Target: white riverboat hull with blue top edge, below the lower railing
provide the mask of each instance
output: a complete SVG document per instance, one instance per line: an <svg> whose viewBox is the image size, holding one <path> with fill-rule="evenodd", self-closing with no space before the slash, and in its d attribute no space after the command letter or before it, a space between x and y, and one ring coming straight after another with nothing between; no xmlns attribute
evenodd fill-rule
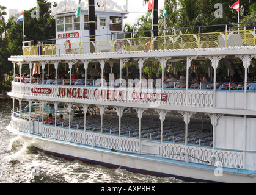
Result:
<svg viewBox="0 0 256 195"><path fill-rule="evenodd" d="M250 171L234 171L228 168L219 169L209 165L186 163L180 160L111 151L110 149L67 143L65 141L51 140L37 137L37 135L16 132L12 130L11 126L7 127L7 129L10 132L18 133L27 143L37 149L69 160L81 160L108 168L122 168L131 172L163 177L177 177L200 182L247 183L256 181L256 174Z"/></svg>

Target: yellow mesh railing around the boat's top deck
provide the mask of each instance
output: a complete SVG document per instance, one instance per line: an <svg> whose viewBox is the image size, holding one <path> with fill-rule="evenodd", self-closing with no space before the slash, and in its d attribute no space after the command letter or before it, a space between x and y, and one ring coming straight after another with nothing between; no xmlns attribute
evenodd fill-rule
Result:
<svg viewBox="0 0 256 195"><path fill-rule="evenodd" d="M254 30L224 31L198 34L174 34L159 37L126 38L93 42L96 52L144 51L164 49L227 48L255 46ZM23 55L59 55L89 53L89 42L70 44L38 44L24 46Z"/></svg>

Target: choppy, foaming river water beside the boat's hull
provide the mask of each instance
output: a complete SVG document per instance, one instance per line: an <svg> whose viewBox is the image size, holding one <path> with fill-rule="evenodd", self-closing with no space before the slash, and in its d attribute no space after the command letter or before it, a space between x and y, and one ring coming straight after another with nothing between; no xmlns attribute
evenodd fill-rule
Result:
<svg viewBox="0 0 256 195"><path fill-rule="evenodd" d="M134 174L47 155L10 133L12 101L0 102L1 183L185 183L174 177Z"/></svg>

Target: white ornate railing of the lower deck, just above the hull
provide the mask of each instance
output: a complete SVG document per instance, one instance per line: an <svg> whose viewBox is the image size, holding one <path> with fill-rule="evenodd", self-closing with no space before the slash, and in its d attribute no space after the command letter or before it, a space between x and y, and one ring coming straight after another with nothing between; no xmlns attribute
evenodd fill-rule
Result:
<svg viewBox="0 0 256 195"><path fill-rule="evenodd" d="M33 122L12 117L11 124L12 128L19 132L34 132ZM83 130L68 129L57 126L43 125L42 137L68 141L76 144L86 144L92 147L97 146L106 149L133 152L134 154L139 154L140 151L138 138L119 137L117 135L100 134L97 132L85 132ZM154 141L150 140L150 142L153 143ZM156 145L159 145L159 141L156 141ZM210 147L185 146L185 144L164 142L161 145L162 154L159 154L159 156L174 160L185 160L182 152L185 151L186 147L189 162L213 165L214 162L218 161L223 167L244 169L244 152L241 151L215 149L213 154L213 149Z"/></svg>

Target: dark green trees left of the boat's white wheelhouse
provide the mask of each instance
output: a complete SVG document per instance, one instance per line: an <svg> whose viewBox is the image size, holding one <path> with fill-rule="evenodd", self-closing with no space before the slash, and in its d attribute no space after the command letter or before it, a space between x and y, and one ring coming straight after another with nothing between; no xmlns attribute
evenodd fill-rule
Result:
<svg viewBox="0 0 256 195"><path fill-rule="evenodd" d="M55 19L51 16L51 3L47 0L37 0L40 7L40 17L31 18L31 12L35 9L24 10L25 41L46 40L55 38ZM56 3L54 3L56 4ZM23 46L23 22L16 24L13 17L4 21L6 7L0 5L0 34L5 32L5 38L0 38L0 87L8 90L10 82L4 82L4 74L12 73L13 64L8 61L12 55L22 55ZM23 69L23 71L27 71Z"/></svg>

